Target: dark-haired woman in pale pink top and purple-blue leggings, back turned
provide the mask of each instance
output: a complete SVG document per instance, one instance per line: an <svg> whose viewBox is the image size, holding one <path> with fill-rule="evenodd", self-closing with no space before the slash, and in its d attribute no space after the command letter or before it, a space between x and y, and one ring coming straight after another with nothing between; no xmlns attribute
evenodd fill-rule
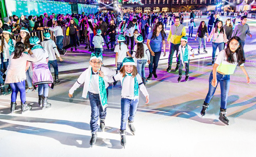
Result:
<svg viewBox="0 0 256 157"><path fill-rule="evenodd" d="M31 105L26 103L26 63L27 61L36 61L36 56L33 55L31 51L29 54L24 53L24 44L22 42L17 42L15 45L15 50L10 56L9 66L6 70L6 80L5 83L10 83L12 88L11 93L11 113L16 109L16 98L18 91L20 91L21 99L21 110L22 113L30 110Z"/></svg>

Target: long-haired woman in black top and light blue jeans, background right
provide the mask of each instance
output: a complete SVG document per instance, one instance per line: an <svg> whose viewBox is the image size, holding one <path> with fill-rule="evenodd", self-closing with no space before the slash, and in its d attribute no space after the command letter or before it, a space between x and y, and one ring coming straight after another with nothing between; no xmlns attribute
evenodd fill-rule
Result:
<svg viewBox="0 0 256 157"><path fill-rule="evenodd" d="M197 36L198 36L198 42L199 42L198 54L200 54L200 48L201 48L201 45L202 45L202 41L203 41L203 48L204 48L203 52L207 53L207 51L206 51L206 38L207 37L209 38L209 34L208 34L208 30L207 30L207 27L206 27L204 21L201 21L201 23L200 23L200 25L197 29L196 38L197 38ZM196 40L196 38L195 38L195 40Z"/></svg>

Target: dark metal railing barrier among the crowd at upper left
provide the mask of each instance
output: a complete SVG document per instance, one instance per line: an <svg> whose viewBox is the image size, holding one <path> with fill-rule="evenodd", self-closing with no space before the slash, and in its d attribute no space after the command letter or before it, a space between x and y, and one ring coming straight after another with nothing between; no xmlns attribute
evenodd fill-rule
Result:
<svg viewBox="0 0 256 157"><path fill-rule="evenodd" d="M54 32L50 31L49 29L44 29L44 30L39 30L39 31L31 31L30 36L37 36L40 39L40 41L42 41L44 32L49 32L50 35L51 35L51 39L56 43L56 38L54 36ZM70 47L70 39L69 39L69 36L66 36L66 27L65 26L62 27L62 32L63 32L63 35L64 35L63 47L64 48L69 48ZM77 31L76 33L77 33L78 39L79 39L79 31ZM18 37L18 35L19 34L14 34L14 39L15 40Z"/></svg>

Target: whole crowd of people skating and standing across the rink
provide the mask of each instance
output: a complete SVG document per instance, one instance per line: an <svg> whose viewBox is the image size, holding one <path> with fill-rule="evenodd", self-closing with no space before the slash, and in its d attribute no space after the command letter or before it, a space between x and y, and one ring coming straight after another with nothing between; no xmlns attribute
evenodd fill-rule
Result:
<svg viewBox="0 0 256 157"><path fill-rule="evenodd" d="M201 44L203 42L203 52L206 51L206 41L212 40L212 64L213 71L209 77L209 91L203 103L201 114L205 115L209 106L216 86L220 84L221 107L219 119L229 124L226 115L226 102L229 91L230 75L234 73L236 65L239 65L246 75L247 83L250 83L244 63L244 45L246 34L252 37L249 31L249 25L246 24L247 17L241 17L241 23L235 25L234 19L227 19L225 25L220 21L219 16L212 14L209 16L208 26L205 21L201 21L195 40L198 38L198 54L200 54ZM166 25L169 25L170 32L166 35ZM84 43L85 49L91 52L90 66L86 69L73 87L69 90L69 97L73 97L74 91L84 83L82 97L86 98L89 93L91 104L91 145L95 145L97 131L99 128L104 130L106 107L108 97L108 83L121 81L121 144L126 145L126 124L128 120L129 129L135 134L133 126L134 116L139 102L139 90L146 97L146 103L149 102L149 94L146 90L146 82L157 79L156 70L160 55L166 55L166 44L170 45L168 57L169 71L178 71L178 79L182 79L182 68L185 66L185 81L189 80L190 58L194 57L194 50L188 44L189 38L193 37L193 29L196 28L194 23L195 14L191 12L190 21L188 22L189 33L187 37L186 27L182 25L184 16L179 12L179 16L174 13L169 15L164 12L158 13L87 13L69 14L55 16L54 13L48 17L47 13L36 16L17 16L4 17L0 21L0 50L1 50L1 73L0 88L1 94L5 94L5 84L8 84L7 92L11 92L11 113L16 109L17 93L20 92L22 113L32 108L26 103L26 93L33 90L38 92L38 103L42 104L42 109L51 107L48 102L49 87L53 88L58 85L58 64L63 61L60 55L65 55L66 50L63 48L64 33L70 38L71 52L73 47L77 50L80 43ZM199 18L199 16L198 16ZM28 21L28 22L27 22ZM231 24L233 21L233 25ZM66 27L63 32L62 27ZM213 28L213 29L212 29ZM43 33L41 40L37 36L30 36L31 31L40 31L49 29L54 31L56 43L51 40L49 32ZM151 29L151 31L150 31ZM14 33L18 33L16 40ZM109 40L108 40L109 39ZM117 40L117 43L116 43ZM111 70L102 66L103 64L103 45L107 49L116 53L115 65L117 70ZM225 48L226 44L226 48ZM130 49L129 46L130 45ZM215 53L219 48L219 55L215 60ZM176 68L172 68L172 60L176 52ZM128 55L128 57L127 57ZM145 76L145 66L149 64L149 76ZM137 64L137 67L135 66ZM54 68L54 81L50 73L50 66ZM21 70L22 69L22 70ZM95 75L96 74L96 75ZM26 90L26 82L28 89ZM128 114L129 113L129 114ZM100 118L100 126L97 124Z"/></svg>

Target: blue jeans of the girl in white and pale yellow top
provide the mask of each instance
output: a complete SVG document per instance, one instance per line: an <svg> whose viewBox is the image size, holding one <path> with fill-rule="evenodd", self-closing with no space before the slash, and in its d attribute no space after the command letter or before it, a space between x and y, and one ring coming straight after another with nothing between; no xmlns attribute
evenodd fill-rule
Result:
<svg viewBox="0 0 256 157"><path fill-rule="evenodd" d="M221 95L221 102L220 102L220 108L226 109L226 104L228 101L228 92L229 92L229 83L230 83L230 75L222 75L217 72L216 74L217 78L217 86L220 83L220 95ZM215 93L215 90L217 88L213 87L211 82L213 79L213 72L210 73L209 77L209 90L205 99L206 103L210 103L210 100L213 97L213 94Z"/></svg>

